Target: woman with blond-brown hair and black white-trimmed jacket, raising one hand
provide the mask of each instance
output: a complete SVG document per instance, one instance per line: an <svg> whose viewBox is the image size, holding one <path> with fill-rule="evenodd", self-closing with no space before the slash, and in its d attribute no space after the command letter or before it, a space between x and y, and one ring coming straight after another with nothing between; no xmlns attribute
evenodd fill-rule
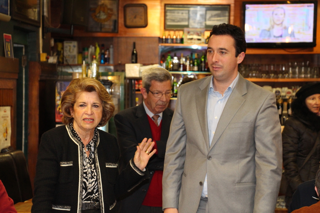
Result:
<svg viewBox="0 0 320 213"><path fill-rule="evenodd" d="M66 125L41 138L31 212L117 212L116 199L148 178L154 142L145 138L119 174L117 140L97 129L114 111L105 87L90 78L72 80L61 110Z"/></svg>

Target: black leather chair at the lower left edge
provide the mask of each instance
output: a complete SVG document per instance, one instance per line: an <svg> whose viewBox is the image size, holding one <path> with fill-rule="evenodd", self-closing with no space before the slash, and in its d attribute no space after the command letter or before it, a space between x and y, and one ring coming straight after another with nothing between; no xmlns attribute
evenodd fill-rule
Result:
<svg viewBox="0 0 320 213"><path fill-rule="evenodd" d="M24 202L33 197L26 159L20 150L7 150L0 153L0 180L14 203Z"/></svg>

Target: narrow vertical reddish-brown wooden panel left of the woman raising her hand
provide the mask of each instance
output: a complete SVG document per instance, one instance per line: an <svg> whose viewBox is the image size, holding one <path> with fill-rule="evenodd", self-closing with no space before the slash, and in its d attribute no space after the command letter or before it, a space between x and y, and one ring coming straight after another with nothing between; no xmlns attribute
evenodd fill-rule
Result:
<svg viewBox="0 0 320 213"><path fill-rule="evenodd" d="M39 150L39 78L41 65L29 62L29 111L28 111L28 170L32 188L36 175L36 162Z"/></svg>

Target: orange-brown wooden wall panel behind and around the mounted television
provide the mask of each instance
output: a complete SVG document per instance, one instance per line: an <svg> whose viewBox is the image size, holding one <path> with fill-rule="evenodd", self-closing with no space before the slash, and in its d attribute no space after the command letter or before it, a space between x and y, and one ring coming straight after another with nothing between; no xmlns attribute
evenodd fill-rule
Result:
<svg viewBox="0 0 320 213"><path fill-rule="evenodd" d="M256 0L234 0L234 25L242 27L242 2ZM272 0L266 0L266 2ZM320 0L318 0L318 12L320 11ZM246 54L319 54L320 53L320 16L317 15L317 39L316 47L313 48L248 48Z"/></svg>

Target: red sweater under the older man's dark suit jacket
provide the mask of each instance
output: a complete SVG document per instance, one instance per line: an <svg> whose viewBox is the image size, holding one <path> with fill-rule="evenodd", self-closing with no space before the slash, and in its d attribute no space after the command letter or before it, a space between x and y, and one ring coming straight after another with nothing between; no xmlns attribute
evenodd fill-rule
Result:
<svg viewBox="0 0 320 213"><path fill-rule="evenodd" d="M151 128L152 140L155 141L153 148L157 149L156 141L160 141L161 138L162 120L159 126L156 126L155 122L149 116L148 120ZM158 154L158 150L156 151L156 154ZM162 170L155 171L142 205L162 207L162 175Z"/></svg>

